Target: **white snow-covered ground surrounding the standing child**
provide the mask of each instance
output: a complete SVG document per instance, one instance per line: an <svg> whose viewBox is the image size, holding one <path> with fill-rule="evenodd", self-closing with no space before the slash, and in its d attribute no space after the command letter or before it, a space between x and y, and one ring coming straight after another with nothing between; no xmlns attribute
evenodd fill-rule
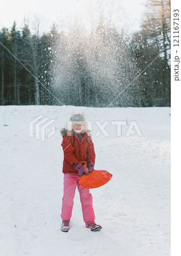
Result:
<svg viewBox="0 0 181 256"><path fill-rule="evenodd" d="M110 136L95 136L95 122L92 130L95 168L113 175L91 189L95 221L103 228L85 228L77 191L71 229L60 231L60 129L69 112L63 106L1 106L0 254L170 255L170 108L66 108L85 111L88 121L110 121ZM56 133L45 142L29 136L29 124L39 115L56 120ZM111 121L127 121L120 137ZM125 136L131 121L143 136Z"/></svg>

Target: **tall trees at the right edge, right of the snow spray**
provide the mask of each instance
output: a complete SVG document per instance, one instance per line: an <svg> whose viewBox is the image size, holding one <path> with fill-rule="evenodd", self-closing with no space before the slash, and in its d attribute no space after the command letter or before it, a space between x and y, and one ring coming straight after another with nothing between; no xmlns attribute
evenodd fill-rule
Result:
<svg viewBox="0 0 181 256"><path fill-rule="evenodd" d="M150 64L144 72L145 94L150 106L170 106L170 31L170 0L147 0L142 28L133 35L132 44L141 69Z"/></svg>

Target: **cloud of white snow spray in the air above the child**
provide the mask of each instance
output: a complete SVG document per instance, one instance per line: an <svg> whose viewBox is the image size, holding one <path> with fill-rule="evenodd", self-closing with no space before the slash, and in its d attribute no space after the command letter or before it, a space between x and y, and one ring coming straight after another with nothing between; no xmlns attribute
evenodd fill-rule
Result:
<svg viewBox="0 0 181 256"><path fill-rule="evenodd" d="M75 22L58 34L52 59L52 92L62 105L141 106L141 76L129 39L103 19L90 32Z"/></svg>

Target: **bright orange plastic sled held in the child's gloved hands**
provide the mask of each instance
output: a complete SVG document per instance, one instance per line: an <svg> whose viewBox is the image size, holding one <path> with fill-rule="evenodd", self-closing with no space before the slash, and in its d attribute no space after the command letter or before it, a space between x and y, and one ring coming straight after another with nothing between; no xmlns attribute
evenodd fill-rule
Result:
<svg viewBox="0 0 181 256"><path fill-rule="evenodd" d="M83 168L87 169L87 163L81 162ZM112 174L105 170L94 170L89 172L87 175L82 175L81 179L79 180L79 185L84 188L98 188L102 185L106 184L112 178Z"/></svg>

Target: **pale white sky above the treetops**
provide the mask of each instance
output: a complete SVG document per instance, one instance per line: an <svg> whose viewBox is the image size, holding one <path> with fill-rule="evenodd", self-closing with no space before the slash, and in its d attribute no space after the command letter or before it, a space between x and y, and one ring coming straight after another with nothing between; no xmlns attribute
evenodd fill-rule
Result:
<svg viewBox="0 0 181 256"><path fill-rule="evenodd" d="M124 27L128 34L139 30L144 16L146 0L31 0L4 1L0 9L0 29L22 28L24 19L30 28L40 21L40 32L48 32L53 23L58 31L66 30L79 19L90 30L96 26L100 14L115 24L118 30Z"/></svg>

